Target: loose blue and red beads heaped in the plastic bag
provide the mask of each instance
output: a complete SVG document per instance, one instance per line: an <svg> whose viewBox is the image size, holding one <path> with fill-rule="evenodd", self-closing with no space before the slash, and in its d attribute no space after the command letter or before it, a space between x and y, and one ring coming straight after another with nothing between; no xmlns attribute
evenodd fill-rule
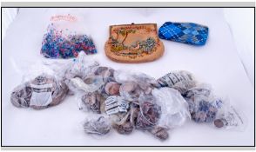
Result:
<svg viewBox="0 0 256 152"><path fill-rule="evenodd" d="M72 58L80 51L85 54L95 54L97 50L91 38L86 35L69 34L65 36L57 31L53 24L48 27L44 35L41 54L49 58Z"/></svg>

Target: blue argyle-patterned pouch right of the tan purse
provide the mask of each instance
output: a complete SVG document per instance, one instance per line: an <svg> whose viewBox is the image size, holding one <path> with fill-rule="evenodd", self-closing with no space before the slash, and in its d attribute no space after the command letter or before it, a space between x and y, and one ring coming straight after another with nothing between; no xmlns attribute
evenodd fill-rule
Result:
<svg viewBox="0 0 256 152"><path fill-rule="evenodd" d="M208 27L197 23L164 23L158 30L159 38L192 45L205 45Z"/></svg>

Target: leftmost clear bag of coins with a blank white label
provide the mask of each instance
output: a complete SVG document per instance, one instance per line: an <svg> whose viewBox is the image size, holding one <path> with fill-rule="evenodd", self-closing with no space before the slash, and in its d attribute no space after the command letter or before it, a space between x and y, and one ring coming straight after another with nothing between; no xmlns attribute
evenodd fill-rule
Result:
<svg viewBox="0 0 256 152"><path fill-rule="evenodd" d="M16 107L45 109L62 102L67 92L64 81L43 73L14 89L10 102Z"/></svg>

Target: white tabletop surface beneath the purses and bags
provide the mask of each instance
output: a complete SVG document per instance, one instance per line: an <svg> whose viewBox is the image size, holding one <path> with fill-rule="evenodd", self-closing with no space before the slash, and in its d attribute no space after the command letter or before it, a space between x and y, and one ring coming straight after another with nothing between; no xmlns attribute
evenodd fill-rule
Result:
<svg viewBox="0 0 256 152"><path fill-rule="evenodd" d="M232 35L221 9L73 9L81 13L84 26L91 31L98 49L98 62L114 69L133 69L158 78L174 69L191 71L199 81L211 83L219 96L229 96L232 104L247 117L244 132L219 130L207 124L186 122L170 131L165 142L140 130L131 135L115 131L104 138L85 135L81 126L86 113L77 109L75 96L44 110L17 109L10 103L10 92L21 82L21 74L13 63L18 60L42 60L39 51L47 21L54 12L64 9L21 9L17 19L3 40L3 145L253 145L253 86L246 76L235 51ZM67 12L67 11L65 11ZM69 11L71 12L71 11ZM193 22L209 27L205 46L194 47L163 40L165 55L152 63L114 63L104 55L104 43L109 36L109 25L118 23L158 23L165 21ZM21 63L18 63L18 66ZM25 65L26 63L24 63ZM27 70L30 70L27 67Z"/></svg>

